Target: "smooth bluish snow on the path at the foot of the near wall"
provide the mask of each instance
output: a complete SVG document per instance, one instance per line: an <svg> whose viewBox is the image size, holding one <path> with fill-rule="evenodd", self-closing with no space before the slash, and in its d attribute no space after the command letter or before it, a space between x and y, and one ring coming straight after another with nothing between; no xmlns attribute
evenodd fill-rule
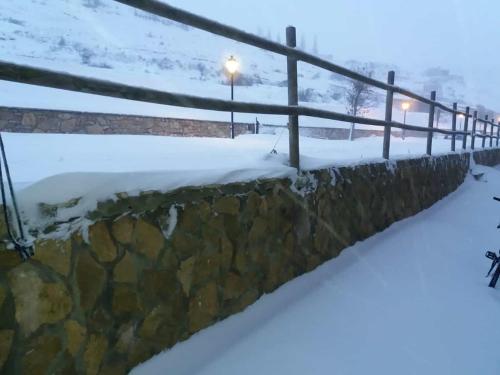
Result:
<svg viewBox="0 0 500 375"><path fill-rule="evenodd" d="M133 375L500 373L500 171L138 366Z"/></svg>

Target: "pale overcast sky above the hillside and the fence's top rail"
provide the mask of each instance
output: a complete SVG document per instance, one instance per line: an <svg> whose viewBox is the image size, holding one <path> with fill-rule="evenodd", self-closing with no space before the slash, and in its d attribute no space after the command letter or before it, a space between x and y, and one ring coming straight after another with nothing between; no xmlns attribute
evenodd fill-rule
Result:
<svg viewBox="0 0 500 375"><path fill-rule="evenodd" d="M498 0L169 0L171 5L273 38L292 24L333 59L440 66L469 87L500 87ZM495 95L500 98L500 95ZM492 99L491 106L495 105Z"/></svg>

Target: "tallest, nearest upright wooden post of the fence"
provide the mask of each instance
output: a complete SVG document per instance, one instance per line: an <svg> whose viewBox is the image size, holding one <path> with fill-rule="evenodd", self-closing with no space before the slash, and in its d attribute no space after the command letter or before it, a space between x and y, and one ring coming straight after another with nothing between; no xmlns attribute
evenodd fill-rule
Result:
<svg viewBox="0 0 500 375"><path fill-rule="evenodd" d="M291 48L297 46L297 33L295 27L286 28L286 45ZM288 72L288 105L297 106L299 104L298 82L297 82L297 59L287 56ZM299 169L299 116L288 116L288 134L290 149L290 166Z"/></svg>

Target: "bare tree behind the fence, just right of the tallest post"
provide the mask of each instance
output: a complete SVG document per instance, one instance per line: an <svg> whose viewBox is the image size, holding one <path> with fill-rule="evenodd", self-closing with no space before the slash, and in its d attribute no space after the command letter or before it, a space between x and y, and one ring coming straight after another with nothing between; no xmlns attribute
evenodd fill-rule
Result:
<svg viewBox="0 0 500 375"><path fill-rule="evenodd" d="M373 76L373 69L369 65L355 66L353 68L357 73L367 77ZM359 116L377 103L377 96L370 85L357 80L349 79L349 84L344 92L344 101L346 104L347 114L351 116ZM355 123L351 124L349 132L349 140L354 138Z"/></svg>

